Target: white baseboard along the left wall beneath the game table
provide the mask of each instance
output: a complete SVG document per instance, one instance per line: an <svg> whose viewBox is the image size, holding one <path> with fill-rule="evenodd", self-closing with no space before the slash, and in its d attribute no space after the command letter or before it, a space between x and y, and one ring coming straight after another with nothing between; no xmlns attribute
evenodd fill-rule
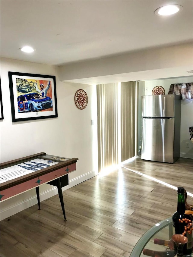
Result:
<svg viewBox="0 0 193 257"><path fill-rule="evenodd" d="M84 175L81 175L72 180L69 180L68 186L63 187L62 191L65 191L68 188L71 188L72 186L76 186L79 183L96 176L97 174L98 173L95 171L90 171ZM44 191L43 193L40 193L40 201L42 202L42 201L44 201L52 196L55 196L57 194L58 194L57 187L53 187L49 190ZM7 209L5 208L2 212L0 212L0 220L4 220L18 212L21 212L21 211L35 205L35 204L37 204L37 197L33 196L28 199L25 199L22 202L17 203L16 205L12 205L11 207L9 207ZM41 205L40 205L40 207L41 207Z"/></svg>

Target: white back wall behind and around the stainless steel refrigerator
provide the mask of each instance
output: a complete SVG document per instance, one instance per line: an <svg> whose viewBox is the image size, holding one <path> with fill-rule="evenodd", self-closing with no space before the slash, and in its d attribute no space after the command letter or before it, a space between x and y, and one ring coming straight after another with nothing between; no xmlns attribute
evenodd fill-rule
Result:
<svg viewBox="0 0 193 257"><path fill-rule="evenodd" d="M169 87L174 83L188 83L193 82L193 76L172 78L165 80L149 80L143 84L141 88L141 95L152 95L152 89L155 86L163 86L165 94L168 94ZM141 99L141 96L139 96ZM193 158L193 144L190 141L190 133L188 128L193 126L193 99L181 101L181 131L180 131L180 157ZM140 133L140 132L139 132ZM186 142L189 143L189 148L186 147Z"/></svg>

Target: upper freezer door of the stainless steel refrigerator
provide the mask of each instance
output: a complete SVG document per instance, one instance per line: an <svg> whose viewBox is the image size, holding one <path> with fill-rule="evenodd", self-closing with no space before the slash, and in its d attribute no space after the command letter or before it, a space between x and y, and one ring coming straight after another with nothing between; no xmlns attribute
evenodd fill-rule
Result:
<svg viewBox="0 0 193 257"><path fill-rule="evenodd" d="M142 117L174 117L175 95L142 96Z"/></svg>

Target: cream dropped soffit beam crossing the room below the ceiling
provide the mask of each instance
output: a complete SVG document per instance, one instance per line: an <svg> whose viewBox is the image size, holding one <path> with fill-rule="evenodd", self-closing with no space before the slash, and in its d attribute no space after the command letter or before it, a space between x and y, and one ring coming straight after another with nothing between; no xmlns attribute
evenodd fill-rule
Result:
<svg viewBox="0 0 193 257"><path fill-rule="evenodd" d="M184 43L75 62L60 66L59 78L63 81L84 79L85 82L93 78L92 81L101 84L186 76L193 68L192 50L192 43ZM113 76L112 81L109 75L115 74L119 76Z"/></svg>

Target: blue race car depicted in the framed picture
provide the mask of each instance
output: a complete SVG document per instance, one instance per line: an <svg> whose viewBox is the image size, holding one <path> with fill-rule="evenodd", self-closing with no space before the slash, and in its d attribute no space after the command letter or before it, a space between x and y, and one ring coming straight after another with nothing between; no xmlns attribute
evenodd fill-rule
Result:
<svg viewBox="0 0 193 257"><path fill-rule="evenodd" d="M18 112L33 112L52 108L52 99L38 93L30 93L17 97Z"/></svg>

